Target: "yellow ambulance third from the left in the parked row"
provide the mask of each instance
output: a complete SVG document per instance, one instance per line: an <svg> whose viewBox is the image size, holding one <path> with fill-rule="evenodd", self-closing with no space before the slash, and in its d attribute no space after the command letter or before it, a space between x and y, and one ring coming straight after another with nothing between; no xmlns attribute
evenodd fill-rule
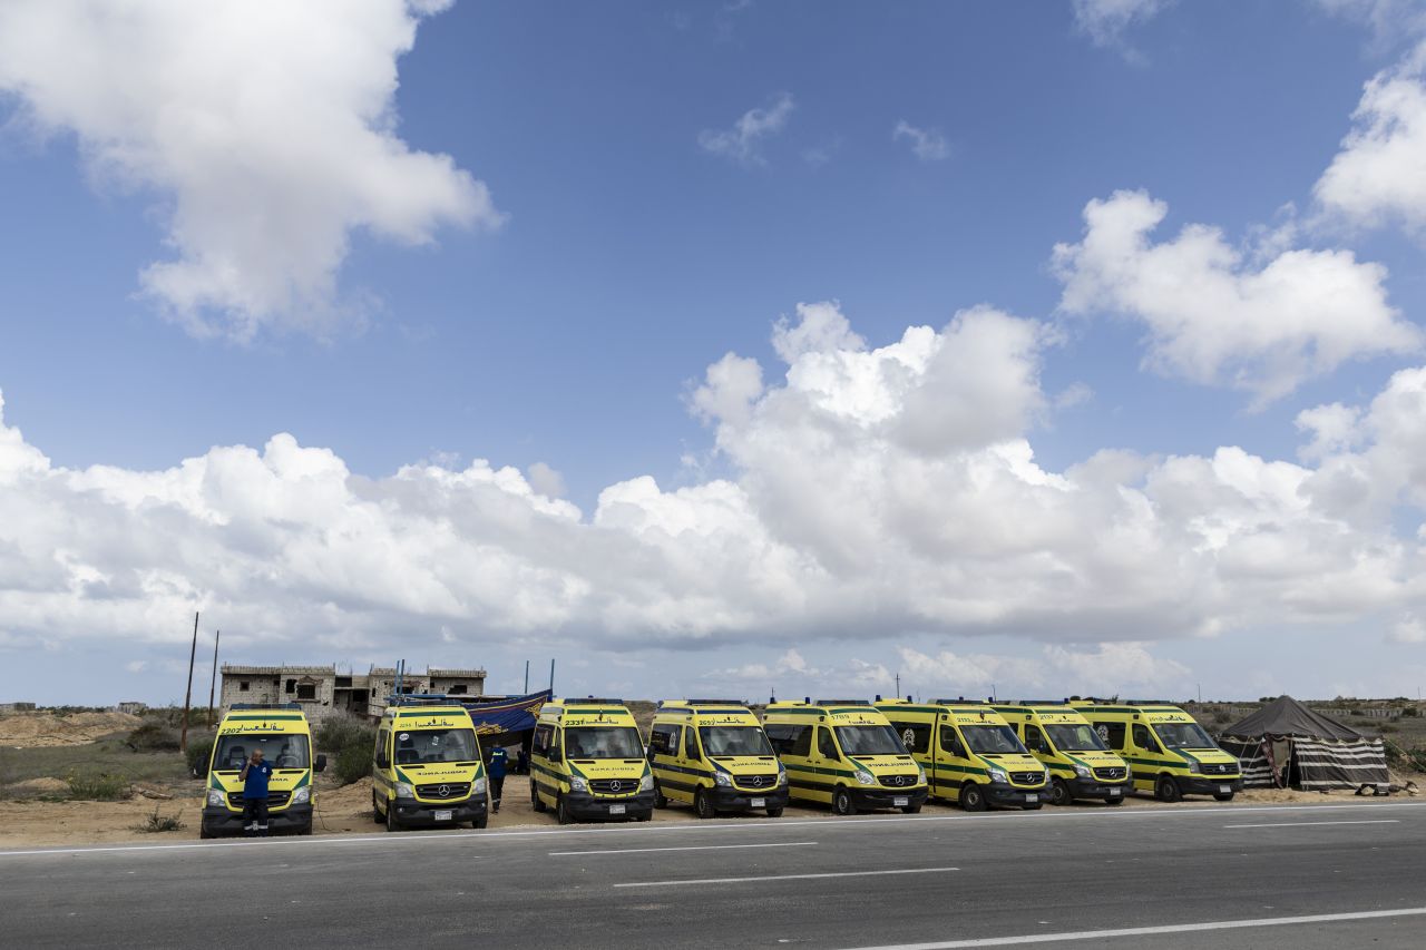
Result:
<svg viewBox="0 0 1426 950"><path fill-rule="evenodd" d="M653 772L619 699L552 699L535 723L530 805L560 824L653 817Z"/></svg>

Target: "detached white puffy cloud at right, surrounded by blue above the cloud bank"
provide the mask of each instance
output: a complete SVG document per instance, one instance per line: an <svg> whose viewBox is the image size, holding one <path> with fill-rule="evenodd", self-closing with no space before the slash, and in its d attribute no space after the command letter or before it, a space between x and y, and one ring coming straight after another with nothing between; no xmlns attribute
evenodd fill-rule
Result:
<svg viewBox="0 0 1426 950"><path fill-rule="evenodd" d="M1420 348L1422 331L1387 302L1385 267L1345 250L1285 250L1259 267L1202 224L1155 242L1166 214L1144 191L1117 191L1054 252L1061 308L1141 320L1159 372L1263 404L1349 359Z"/></svg>

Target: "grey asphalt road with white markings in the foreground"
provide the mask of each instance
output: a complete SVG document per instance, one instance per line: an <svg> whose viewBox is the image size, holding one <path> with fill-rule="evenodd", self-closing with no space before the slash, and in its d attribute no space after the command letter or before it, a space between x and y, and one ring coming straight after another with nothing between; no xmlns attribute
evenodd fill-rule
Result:
<svg viewBox="0 0 1426 950"><path fill-rule="evenodd" d="M1415 803L0 852L4 947L1340 950L1422 933Z"/></svg>

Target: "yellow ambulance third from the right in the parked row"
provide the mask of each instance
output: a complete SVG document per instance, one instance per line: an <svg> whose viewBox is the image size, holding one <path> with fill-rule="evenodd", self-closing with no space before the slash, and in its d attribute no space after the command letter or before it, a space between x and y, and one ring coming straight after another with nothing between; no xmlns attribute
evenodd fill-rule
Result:
<svg viewBox="0 0 1426 950"><path fill-rule="evenodd" d="M933 796L967 812L992 805L1034 810L1048 799L1050 773L988 705L891 699L877 709L931 776Z"/></svg>

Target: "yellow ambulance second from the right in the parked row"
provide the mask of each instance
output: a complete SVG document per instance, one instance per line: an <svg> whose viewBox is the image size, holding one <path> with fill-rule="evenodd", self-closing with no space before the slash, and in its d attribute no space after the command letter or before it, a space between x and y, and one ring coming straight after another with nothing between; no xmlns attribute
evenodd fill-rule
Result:
<svg viewBox="0 0 1426 950"><path fill-rule="evenodd" d="M1102 799L1124 805L1129 766L1109 752L1089 720L1065 702L1022 702L994 706L1020 735L1030 755L1050 769L1050 803Z"/></svg>

